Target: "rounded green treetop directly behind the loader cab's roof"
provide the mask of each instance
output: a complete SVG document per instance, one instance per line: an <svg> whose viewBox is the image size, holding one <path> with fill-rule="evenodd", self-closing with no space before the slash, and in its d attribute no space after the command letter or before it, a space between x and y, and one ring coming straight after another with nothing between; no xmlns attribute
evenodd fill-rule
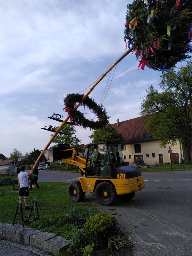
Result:
<svg viewBox="0 0 192 256"><path fill-rule="evenodd" d="M104 141L120 141L122 148L124 147L123 133L117 132L112 126L107 124L105 127L96 129L89 138L92 139L92 143L104 142Z"/></svg>

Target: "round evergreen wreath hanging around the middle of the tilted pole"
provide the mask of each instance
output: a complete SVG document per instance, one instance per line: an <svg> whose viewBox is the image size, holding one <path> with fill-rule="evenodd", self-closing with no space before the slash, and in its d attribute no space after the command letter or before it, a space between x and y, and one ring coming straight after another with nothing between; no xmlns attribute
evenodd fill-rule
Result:
<svg viewBox="0 0 192 256"><path fill-rule="evenodd" d="M83 105L84 107L86 105L93 114L97 115L99 119L98 121L94 121L93 119L86 119L82 112L75 109L76 103L81 102L83 96L83 94L67 94L67 97L64 100L65 108L63 109L63 111L68 112L68 115L70 116L70 121L73 120L75 124L79 124L84 128L89 127L90 129L102 128L106 124L109 124L109 116L107 116L105 108L103 109L102 105L98 106L97 103L89 97L87 97L81 105Z"/></svg>

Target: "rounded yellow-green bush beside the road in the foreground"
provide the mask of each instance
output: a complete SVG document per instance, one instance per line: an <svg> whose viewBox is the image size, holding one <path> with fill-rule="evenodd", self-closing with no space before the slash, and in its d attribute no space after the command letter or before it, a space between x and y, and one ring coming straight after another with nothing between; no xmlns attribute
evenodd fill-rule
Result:
<svg viewBox="0 0 192 256"><path fill-rule="evenodd" d="M89 244L94 243L95 248L107 246L108 237L115 234L116 224L115 216L98 213L86 221L85 238Z"/></svg>

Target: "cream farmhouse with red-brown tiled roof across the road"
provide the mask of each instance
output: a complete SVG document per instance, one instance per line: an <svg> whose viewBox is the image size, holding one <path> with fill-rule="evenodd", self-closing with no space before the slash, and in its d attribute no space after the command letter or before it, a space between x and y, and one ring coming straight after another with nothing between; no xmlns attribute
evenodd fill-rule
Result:
<svg viewBox="0 0 192 256"><path fill-rule="evenodd" d="M159 140L155 140L149 132L144 128L145 121L142 116L130 120L112 124L118 132L123 133L125 145L123 150L124 161L131 163L145 164L167 164L172 162L181 162L183 158L183 150L178 140L172 149L171 160L167 148L160 148Z"/></svg>

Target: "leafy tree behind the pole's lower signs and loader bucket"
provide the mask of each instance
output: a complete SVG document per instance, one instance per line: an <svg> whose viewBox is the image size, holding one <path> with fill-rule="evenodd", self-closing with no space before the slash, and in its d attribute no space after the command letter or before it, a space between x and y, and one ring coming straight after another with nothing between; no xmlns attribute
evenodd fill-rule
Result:
<svg viewBox="0 0 192 256"><path fill-rule="evenodd" d="M59 126L56 127L56 129ZM81 142L81 140L79 140L76 136L76 130L74 128L73 125L71 124L65 124L62 129L61 132L69 132L70 135L67 134L59 134L56 136L56 138L53 140L53 143L55 143L54 147L57 147L59 144L65 144L68 143L70 146L77 146L78 148L78 152L81 152L82 150L82 146L79 146L79 143ZM52 137L52 135L51 135Z"/></svg>

